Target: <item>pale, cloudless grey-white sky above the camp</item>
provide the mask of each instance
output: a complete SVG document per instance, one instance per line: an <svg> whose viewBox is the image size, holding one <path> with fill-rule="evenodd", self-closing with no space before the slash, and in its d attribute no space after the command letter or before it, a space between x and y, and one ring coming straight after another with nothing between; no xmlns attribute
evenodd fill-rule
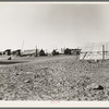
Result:
<svg viewBox="0 0 109 109"><path fill-rule="evenodd" d="M24 45L23 45L24 40ZM0 50L77 48L109 40L109 3L0 2Z"/></svg>

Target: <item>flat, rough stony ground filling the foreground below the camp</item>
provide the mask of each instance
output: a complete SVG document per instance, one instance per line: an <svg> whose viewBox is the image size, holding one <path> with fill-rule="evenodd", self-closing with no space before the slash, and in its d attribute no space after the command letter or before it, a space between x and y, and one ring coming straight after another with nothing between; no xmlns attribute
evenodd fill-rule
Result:
<svg viewBox="0 0 109 109"><path fill-rule="evenodd" d="M1 100L109 100L109 60L89 62L59 56L8 62L12 61L24 62L1 64Z"/></svg>

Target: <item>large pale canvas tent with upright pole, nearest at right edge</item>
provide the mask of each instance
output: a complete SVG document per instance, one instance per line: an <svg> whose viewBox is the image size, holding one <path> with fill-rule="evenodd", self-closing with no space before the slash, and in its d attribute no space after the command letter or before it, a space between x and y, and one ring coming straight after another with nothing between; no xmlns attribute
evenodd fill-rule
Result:
<svg viewBox="0 0 109 109"><path fill-rule="evenodd" d="M109 43L87 44L82 48L80 60L109 59Z"/></svg>

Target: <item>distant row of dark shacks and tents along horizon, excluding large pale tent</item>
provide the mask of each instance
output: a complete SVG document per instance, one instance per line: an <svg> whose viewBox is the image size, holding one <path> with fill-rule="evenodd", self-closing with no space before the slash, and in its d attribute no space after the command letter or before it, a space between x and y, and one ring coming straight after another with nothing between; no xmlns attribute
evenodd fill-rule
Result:
<svg viewBox="0 0 109 109"><path fill-rule="evenodd" d="M51 51L51 53L48 53L47 51L43 50L43 49L28 49L28 50L11 50L11 49L7 49L4 51L0 52L0 56L17 56L17 57L37 57L37 56L57 56L57 55L80 55L81 53L81 49L61 49L61 51L59 51L58 49L53 49Z"/></svg>

